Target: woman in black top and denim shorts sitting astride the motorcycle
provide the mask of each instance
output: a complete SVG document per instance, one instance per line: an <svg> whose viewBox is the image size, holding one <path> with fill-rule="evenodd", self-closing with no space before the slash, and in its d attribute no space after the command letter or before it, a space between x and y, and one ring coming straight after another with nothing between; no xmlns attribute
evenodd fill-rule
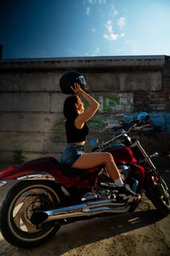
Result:
<svg viewBox="0 0 170 256"><path fill-rule="evenodd" d="M109 152L84 152L85 138L88 135L88 125L86 122L94 116L98 110L99 103L82 90L79 83L74 83L74 87L71 86L71 88L74 91L74 95L66 98L63 105L63 114L66 117L66 139L68 144L61 156L61 163L79 169L105 165L107 173L109 173L110 178L115 182L120 197L123 197L123 200L128 200L128 202L139 202L141 196L123 184L112 154ZM88 102L89 106L86 110L79 96Z"/></svg>

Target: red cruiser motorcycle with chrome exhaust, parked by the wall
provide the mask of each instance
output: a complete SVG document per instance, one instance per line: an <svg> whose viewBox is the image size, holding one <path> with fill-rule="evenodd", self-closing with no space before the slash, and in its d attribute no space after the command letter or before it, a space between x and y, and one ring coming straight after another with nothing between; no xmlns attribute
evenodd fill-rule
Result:
<svg viewBox="0 0 170 256"><path fill-rule="evenodd" d="M157 168L133 138L148 127L146 113L128 131L118 129L110 140L92 151L109 151L125 184L145 194L160 214L170 213L169 189ZM139 203L120 199L104 166L87 170L61 165L53 157L8 167L0 173L0 228L4 238L15 246L34 247L50 239L61 225L93 217L132 212Z"/></svg>

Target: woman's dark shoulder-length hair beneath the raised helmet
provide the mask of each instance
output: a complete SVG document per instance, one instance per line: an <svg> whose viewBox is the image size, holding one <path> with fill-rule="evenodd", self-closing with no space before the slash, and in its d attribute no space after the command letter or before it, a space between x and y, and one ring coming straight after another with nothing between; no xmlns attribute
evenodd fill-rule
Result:
<svg viewBox="0 0 170 256"><path fill-rule="evenodd" d="M75 103L77 103L77 95L69 96L65 99L63 103L63 115L66 118L76 118L77 117L77 109L75 107Z"/></svg>

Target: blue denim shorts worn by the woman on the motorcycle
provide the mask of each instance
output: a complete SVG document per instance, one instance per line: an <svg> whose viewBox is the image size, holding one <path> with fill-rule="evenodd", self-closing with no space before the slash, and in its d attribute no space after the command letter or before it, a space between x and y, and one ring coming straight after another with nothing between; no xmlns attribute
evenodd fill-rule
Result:
<svg viewBox="0 0 170 256"><path fill-rule="evenodd" d="M69 143L61 155L61 164L71 167L84 152L84 146Z"/></svg>

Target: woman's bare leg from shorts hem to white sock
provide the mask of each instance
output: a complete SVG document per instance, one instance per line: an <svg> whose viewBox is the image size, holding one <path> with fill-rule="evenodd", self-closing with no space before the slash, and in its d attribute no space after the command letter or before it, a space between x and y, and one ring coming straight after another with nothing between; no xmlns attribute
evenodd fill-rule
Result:
<svg viewBox="0 0 170 256"><path fill-rule="evenodd" d="M83 153L82 156L79 157L76 162L74 162L72 167L88 169L97 165L105 165L107 167L107 173L109 173L109 176L113 181L120 178L119 170L115 165L112 154L109 152Z"/></svg>

